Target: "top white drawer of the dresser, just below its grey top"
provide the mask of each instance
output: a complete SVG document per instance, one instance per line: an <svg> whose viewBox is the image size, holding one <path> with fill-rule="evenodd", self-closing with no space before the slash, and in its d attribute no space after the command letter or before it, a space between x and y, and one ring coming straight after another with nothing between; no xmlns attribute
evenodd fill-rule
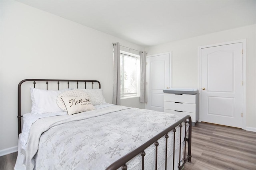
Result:
<svg viewBox="0 0 256 170"><path fill-rule="evenodd" d="M196 104L196 95L164 93L164 101Z"/></svg>

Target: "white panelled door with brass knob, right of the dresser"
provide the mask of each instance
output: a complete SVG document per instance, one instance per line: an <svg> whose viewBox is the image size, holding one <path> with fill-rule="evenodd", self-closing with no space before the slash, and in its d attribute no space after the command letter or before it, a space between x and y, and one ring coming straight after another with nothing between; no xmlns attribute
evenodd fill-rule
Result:
<svg viewBox="0 0 256 170"><path fill-rule="evenodd" d="M242 43L201 49L201 121L242 127Z"/></svg>

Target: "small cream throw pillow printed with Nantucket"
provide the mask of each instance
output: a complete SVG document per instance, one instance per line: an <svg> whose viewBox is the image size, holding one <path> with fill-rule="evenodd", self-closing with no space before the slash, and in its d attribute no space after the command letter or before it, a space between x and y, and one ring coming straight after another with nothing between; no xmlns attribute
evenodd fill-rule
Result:
<svg viewBox="0 0 256 170"><path fill-rule="evenodd" d="M92 102L90 102L89 96L61 96L60 97L64 102L68 115L72 115L75 113L80 113L83 111L94 110L94 106Z"/></svg>

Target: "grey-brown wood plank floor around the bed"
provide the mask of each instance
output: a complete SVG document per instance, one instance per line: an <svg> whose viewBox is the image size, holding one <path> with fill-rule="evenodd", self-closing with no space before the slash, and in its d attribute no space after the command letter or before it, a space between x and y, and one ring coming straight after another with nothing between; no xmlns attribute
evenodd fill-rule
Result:
<svg viewBox="0 0 256 170"><path fill-rule="evenodd" d="M0 157L13 170L17 152ZM256 133L209 123L192 127L192 162L184 170L256 170Z"/></svg>

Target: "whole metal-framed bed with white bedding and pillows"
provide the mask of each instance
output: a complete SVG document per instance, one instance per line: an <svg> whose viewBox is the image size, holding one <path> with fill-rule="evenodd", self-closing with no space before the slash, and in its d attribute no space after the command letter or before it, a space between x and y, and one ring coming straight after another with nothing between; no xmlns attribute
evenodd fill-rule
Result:
<svg viewBox="0 0 256 170"><path fill-rule="evenodd" d="M28 89L30 113L21 107ZM14 169L182 169L191 162L190 125L189 115L108 104L97 80L25 79Z"/></svg>

